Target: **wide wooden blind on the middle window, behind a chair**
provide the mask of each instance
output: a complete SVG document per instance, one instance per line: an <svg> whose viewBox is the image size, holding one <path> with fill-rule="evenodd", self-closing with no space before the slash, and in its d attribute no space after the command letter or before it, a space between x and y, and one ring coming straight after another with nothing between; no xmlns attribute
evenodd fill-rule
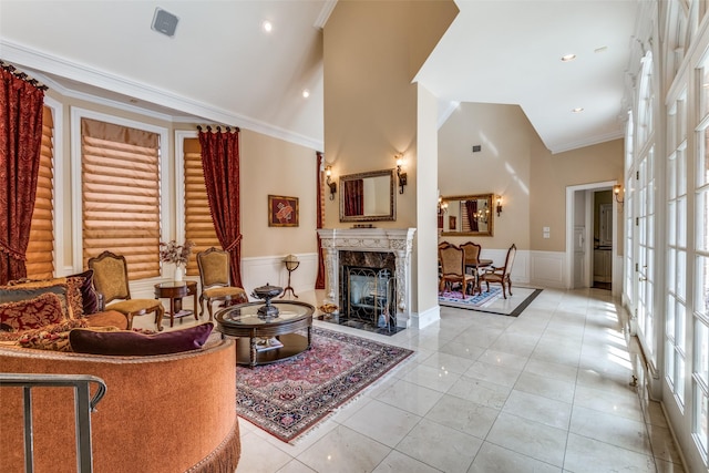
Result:
<svg viewBox="0 0 709 473"><path fill-rule="evenodd" d="M160 135L81 120L83 261L125 256L129 279L160 276Z"/></svg>

